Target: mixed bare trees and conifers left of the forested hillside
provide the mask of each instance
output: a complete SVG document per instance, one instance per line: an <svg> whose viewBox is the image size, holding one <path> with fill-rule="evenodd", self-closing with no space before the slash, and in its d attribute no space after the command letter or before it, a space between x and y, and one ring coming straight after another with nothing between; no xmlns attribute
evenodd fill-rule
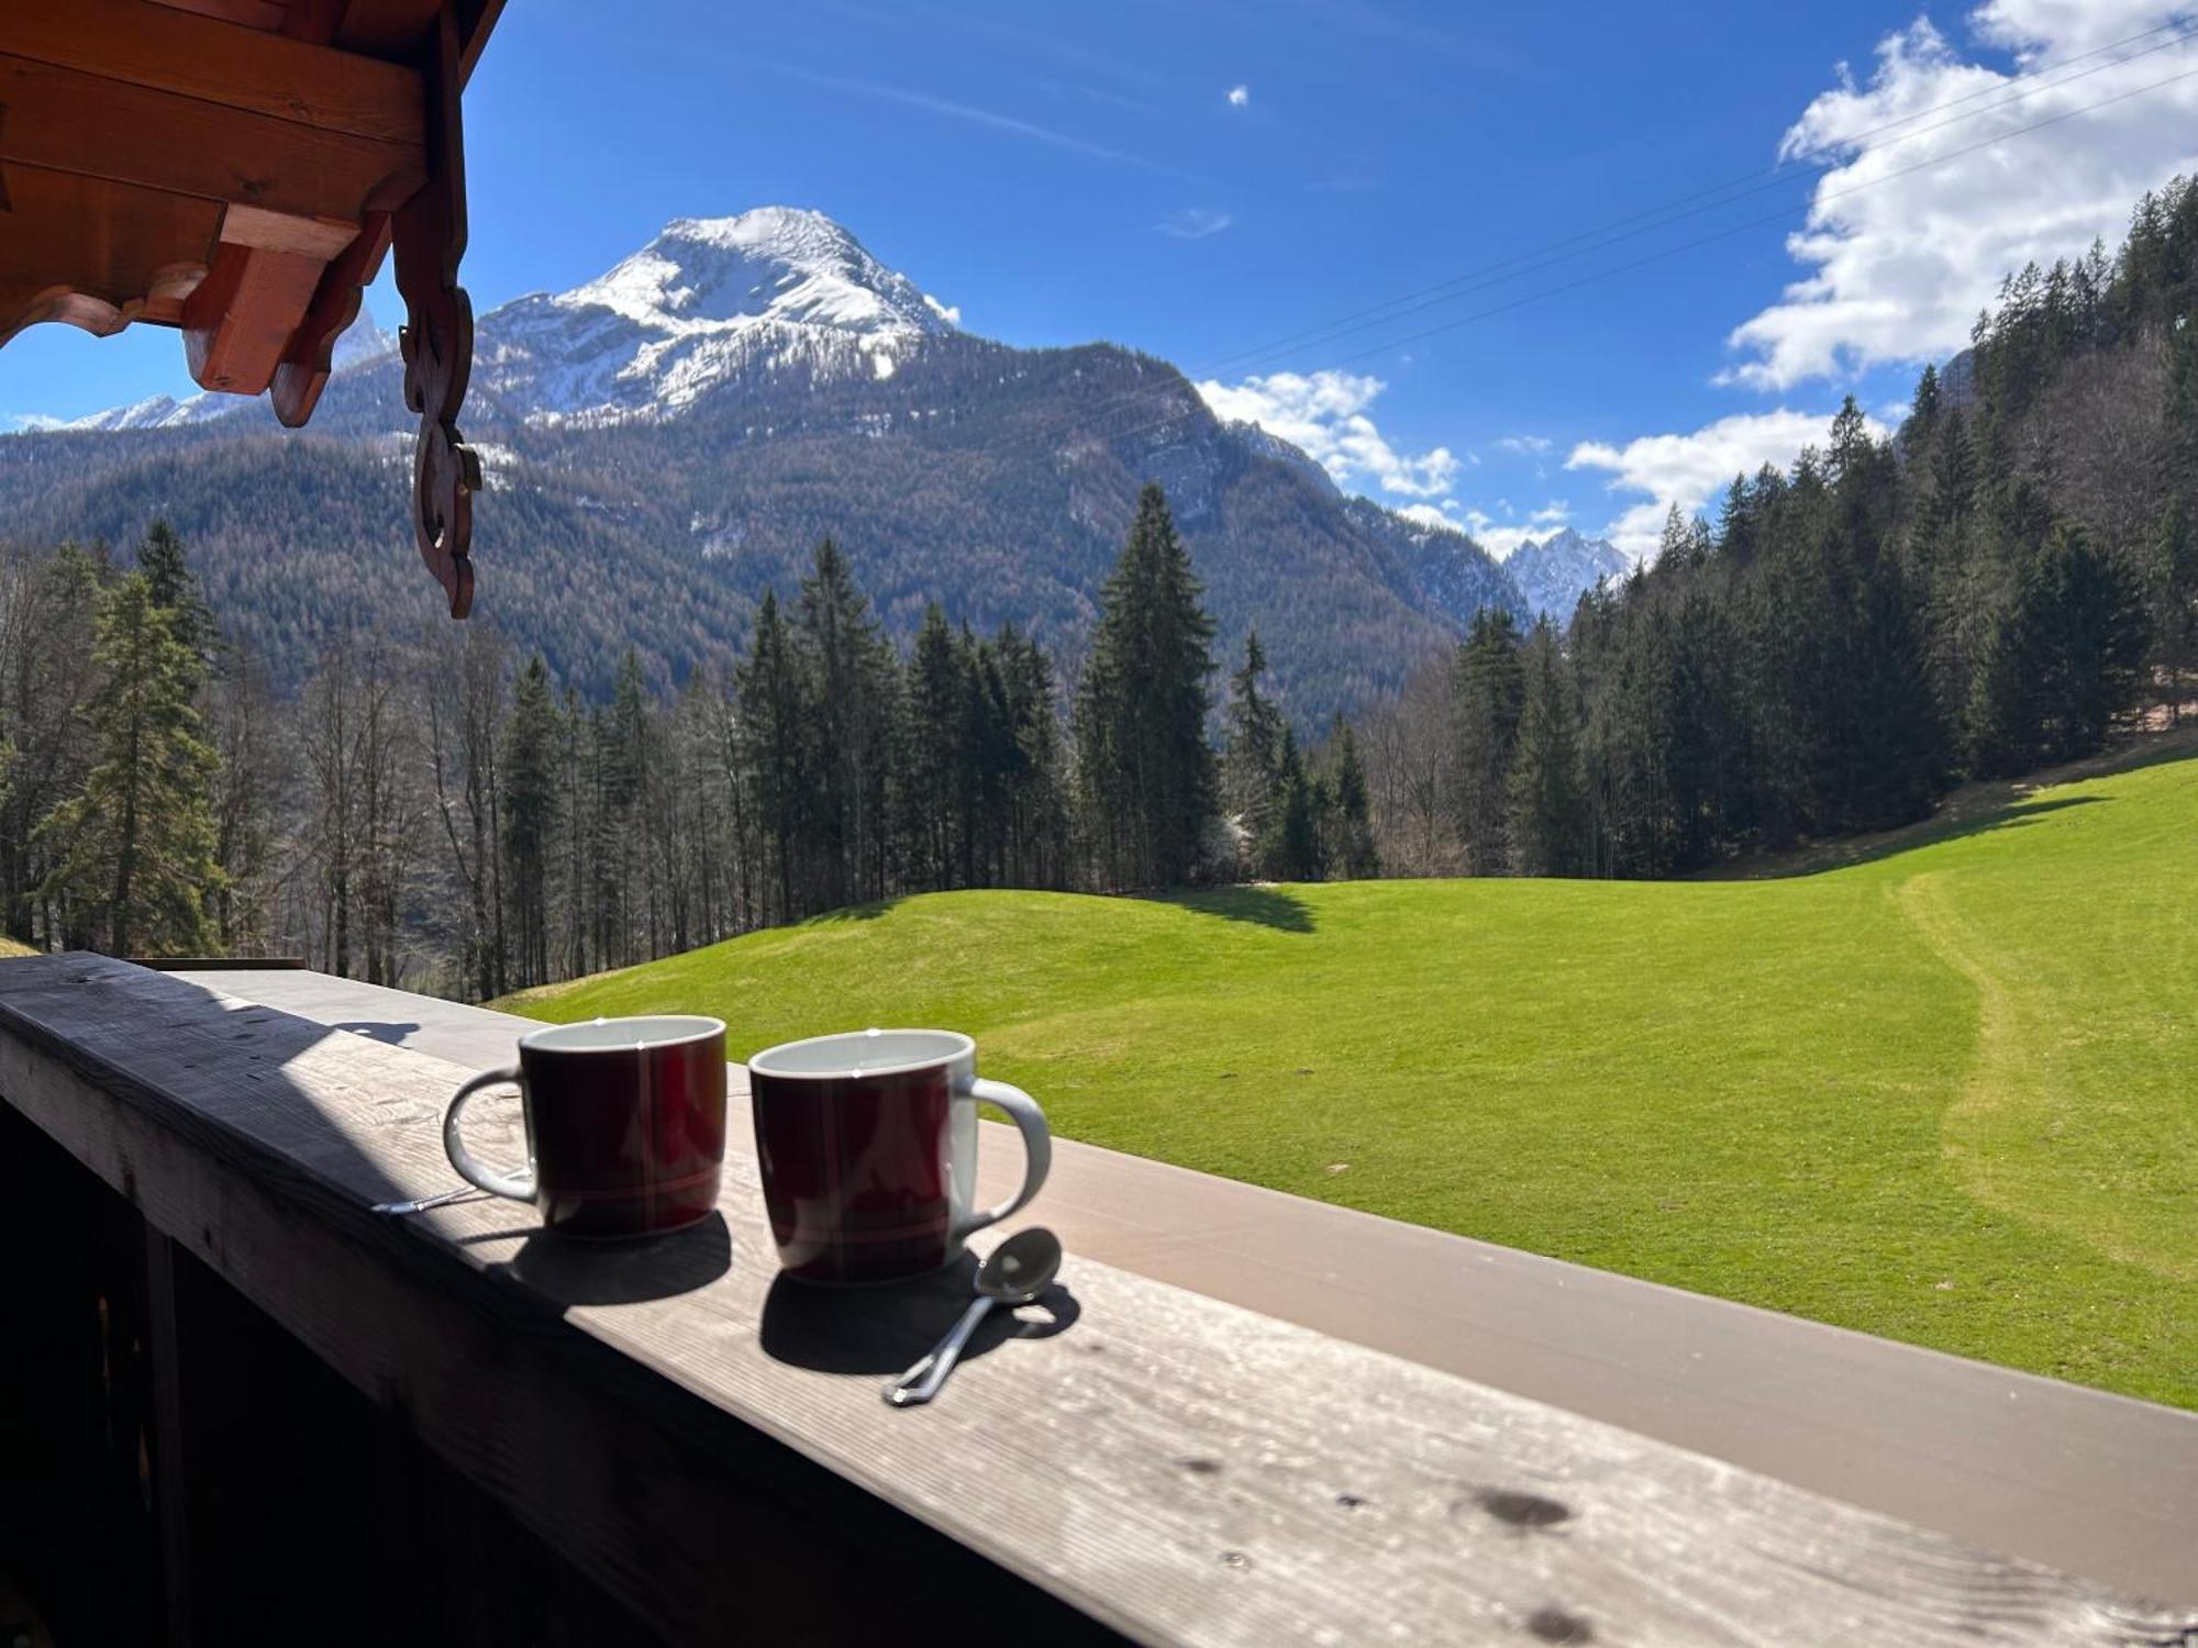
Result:
<svg viewBox="0 0 2198 1648"><path fill-rule="evenodd" d="M1211 639L1158 488L1075 692L1013 624L897 646L831 541L741 657L602 701L486 624L328 635L284 694L167 525L0 552L0 925L490 998L908 892L1372 870L1356 751L1308 760L1257 637L1213 749Z"/></svg>

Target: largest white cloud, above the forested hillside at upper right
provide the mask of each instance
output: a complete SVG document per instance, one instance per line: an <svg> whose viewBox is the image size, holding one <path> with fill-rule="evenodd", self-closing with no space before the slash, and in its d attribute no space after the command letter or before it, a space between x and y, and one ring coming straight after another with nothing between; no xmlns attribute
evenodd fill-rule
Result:
<svg viewBox="0 0 2198 1648"><path fill-rule="evenodd" d="M1842 68L1780 145L1780 160L1844 160L1787 237L1811 272L1732 332L1745 358L1725 380L1789 389L1945 356L2002 275L2099 237L2114 246L2139 193L2198 165L2198 77L2161 86L2194 66L2172 33L2088 53L2185 11L2187 0L1989 0L1967 24L1978 46L2013 53L2007 73L1925 18L1879 42L1866 83ZM2038 79L2011 86L2016 73Z"/></svg>

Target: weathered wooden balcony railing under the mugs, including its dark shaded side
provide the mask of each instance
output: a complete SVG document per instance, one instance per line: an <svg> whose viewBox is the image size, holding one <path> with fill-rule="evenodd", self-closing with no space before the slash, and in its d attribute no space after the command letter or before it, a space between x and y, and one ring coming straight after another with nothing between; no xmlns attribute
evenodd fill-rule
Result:
<svg viewBox="0 0 2198 1648"><path fill-rule="evenodd" d="M2198 1608L1081 1259L895 1411L965 1279L778 1281L743 1151L651 1246L374 1215L446 1187L464 1074L0 962L0 1549L64 1641L2198 1641Z"/></svg>

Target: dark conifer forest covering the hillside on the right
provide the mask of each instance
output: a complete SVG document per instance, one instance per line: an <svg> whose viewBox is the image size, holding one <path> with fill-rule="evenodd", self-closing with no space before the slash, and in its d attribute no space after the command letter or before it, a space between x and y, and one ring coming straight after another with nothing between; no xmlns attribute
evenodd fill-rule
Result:
<svg viewBox="0 0 2198 1648"><path fill-rule="evenodd" d="M1791 472L1525 642L1484 615L1369 727L1398 868L1655 877L1921 817L2183 716L2198 670L2198 185L2027 268L1890 442Z"/></svg>

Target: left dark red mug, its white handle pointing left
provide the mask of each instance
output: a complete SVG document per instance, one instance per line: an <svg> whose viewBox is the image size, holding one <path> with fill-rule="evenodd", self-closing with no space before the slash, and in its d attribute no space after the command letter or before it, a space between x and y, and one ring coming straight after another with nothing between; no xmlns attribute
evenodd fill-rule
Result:
<svg viewBox="0 0 2198 1648"><path fill-rule="evenodd" d="M481 1167L459 1138L466 1101L517 1083L528 1165ZM519 1037L519 1066L484 1070L442 1118L451 1167L468 1184L541 1209L576 1237L679 1231L717 1206L725 1162L725 1026L659 1015L554 1024Z"/></svg>

